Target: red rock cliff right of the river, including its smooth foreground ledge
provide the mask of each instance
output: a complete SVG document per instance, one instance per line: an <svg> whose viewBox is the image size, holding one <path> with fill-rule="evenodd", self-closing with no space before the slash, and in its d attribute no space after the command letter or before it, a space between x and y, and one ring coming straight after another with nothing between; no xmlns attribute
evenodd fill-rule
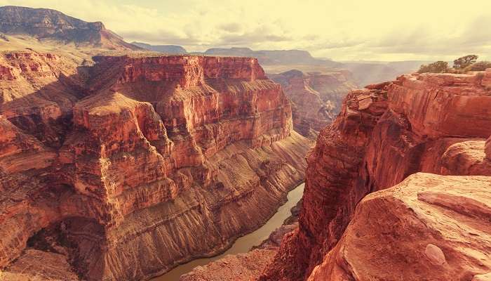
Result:
<svg viewBox="0 0 491 281"><path fill-rule="evenodd" d="M490 79L412 74L352 91L309 153L299 228L260 280L482 280Z"/></svg>

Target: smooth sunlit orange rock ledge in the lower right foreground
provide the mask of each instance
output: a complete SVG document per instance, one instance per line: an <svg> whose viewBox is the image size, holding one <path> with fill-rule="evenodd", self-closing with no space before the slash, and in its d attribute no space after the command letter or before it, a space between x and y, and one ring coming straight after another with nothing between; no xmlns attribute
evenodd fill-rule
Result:
<svg viewBox="0 0 491 281"><path fill-rule="evenodd" d="M474 280L489 273L490 190L489 176L418 173L372 193L308 280Z"/></svg>

